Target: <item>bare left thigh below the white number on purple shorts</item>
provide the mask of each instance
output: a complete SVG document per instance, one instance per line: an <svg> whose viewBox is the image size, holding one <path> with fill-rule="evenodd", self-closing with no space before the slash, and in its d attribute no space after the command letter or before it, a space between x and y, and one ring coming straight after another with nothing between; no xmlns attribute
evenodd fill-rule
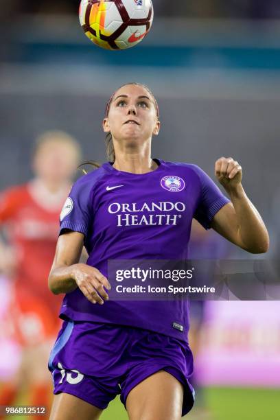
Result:
<svg viewBox="0 0 280 420"><path fill-rule="evenodd" d="M49 420L97 420L103 410L67 393L54 395Z"/></svg>

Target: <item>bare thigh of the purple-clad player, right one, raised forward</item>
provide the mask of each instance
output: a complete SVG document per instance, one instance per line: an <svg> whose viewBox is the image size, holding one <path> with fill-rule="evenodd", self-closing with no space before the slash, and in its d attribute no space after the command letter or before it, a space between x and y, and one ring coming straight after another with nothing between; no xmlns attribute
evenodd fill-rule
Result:
<svg viewBox="0 0 280 420"><path fill-rule="evenodd" d="M159 371L135 386L126 399L130 420L177 420L182 417L183 385Z"/></svg>

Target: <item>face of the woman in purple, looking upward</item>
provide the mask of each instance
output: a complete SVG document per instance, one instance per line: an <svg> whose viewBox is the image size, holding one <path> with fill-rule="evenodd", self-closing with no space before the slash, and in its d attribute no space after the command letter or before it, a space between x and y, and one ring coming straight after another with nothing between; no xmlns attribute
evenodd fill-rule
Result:
<svg viewBox="0 0 280 420"><path fill-rule="evenodd" d="M117 141L141 142L158 135L160 123L150 93L134 84L121 87L111 101L103 128Z"/></svg>

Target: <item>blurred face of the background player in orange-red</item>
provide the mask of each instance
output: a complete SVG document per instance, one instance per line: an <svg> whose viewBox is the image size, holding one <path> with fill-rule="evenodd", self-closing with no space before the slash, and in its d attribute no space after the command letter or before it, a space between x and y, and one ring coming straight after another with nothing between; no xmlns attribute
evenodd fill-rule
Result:
<svg viewBox="0 0 280 420"><path fill-rule="evenodd" d="M73 176L78 159L73 145L54 139L40 145L34 156L33 168L40 178L65 183Z"/></svg>

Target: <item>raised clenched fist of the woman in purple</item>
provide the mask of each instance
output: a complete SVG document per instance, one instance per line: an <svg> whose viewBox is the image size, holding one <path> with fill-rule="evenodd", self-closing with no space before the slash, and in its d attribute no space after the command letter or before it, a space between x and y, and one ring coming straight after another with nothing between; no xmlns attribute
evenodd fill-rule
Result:
<svg viewBox="0 0 280 420"><path fill-rule="evenodd" d="M221 157L215 162L215 176L224 189L235 188L242 181L242 167L233 158Z"/></svg>

